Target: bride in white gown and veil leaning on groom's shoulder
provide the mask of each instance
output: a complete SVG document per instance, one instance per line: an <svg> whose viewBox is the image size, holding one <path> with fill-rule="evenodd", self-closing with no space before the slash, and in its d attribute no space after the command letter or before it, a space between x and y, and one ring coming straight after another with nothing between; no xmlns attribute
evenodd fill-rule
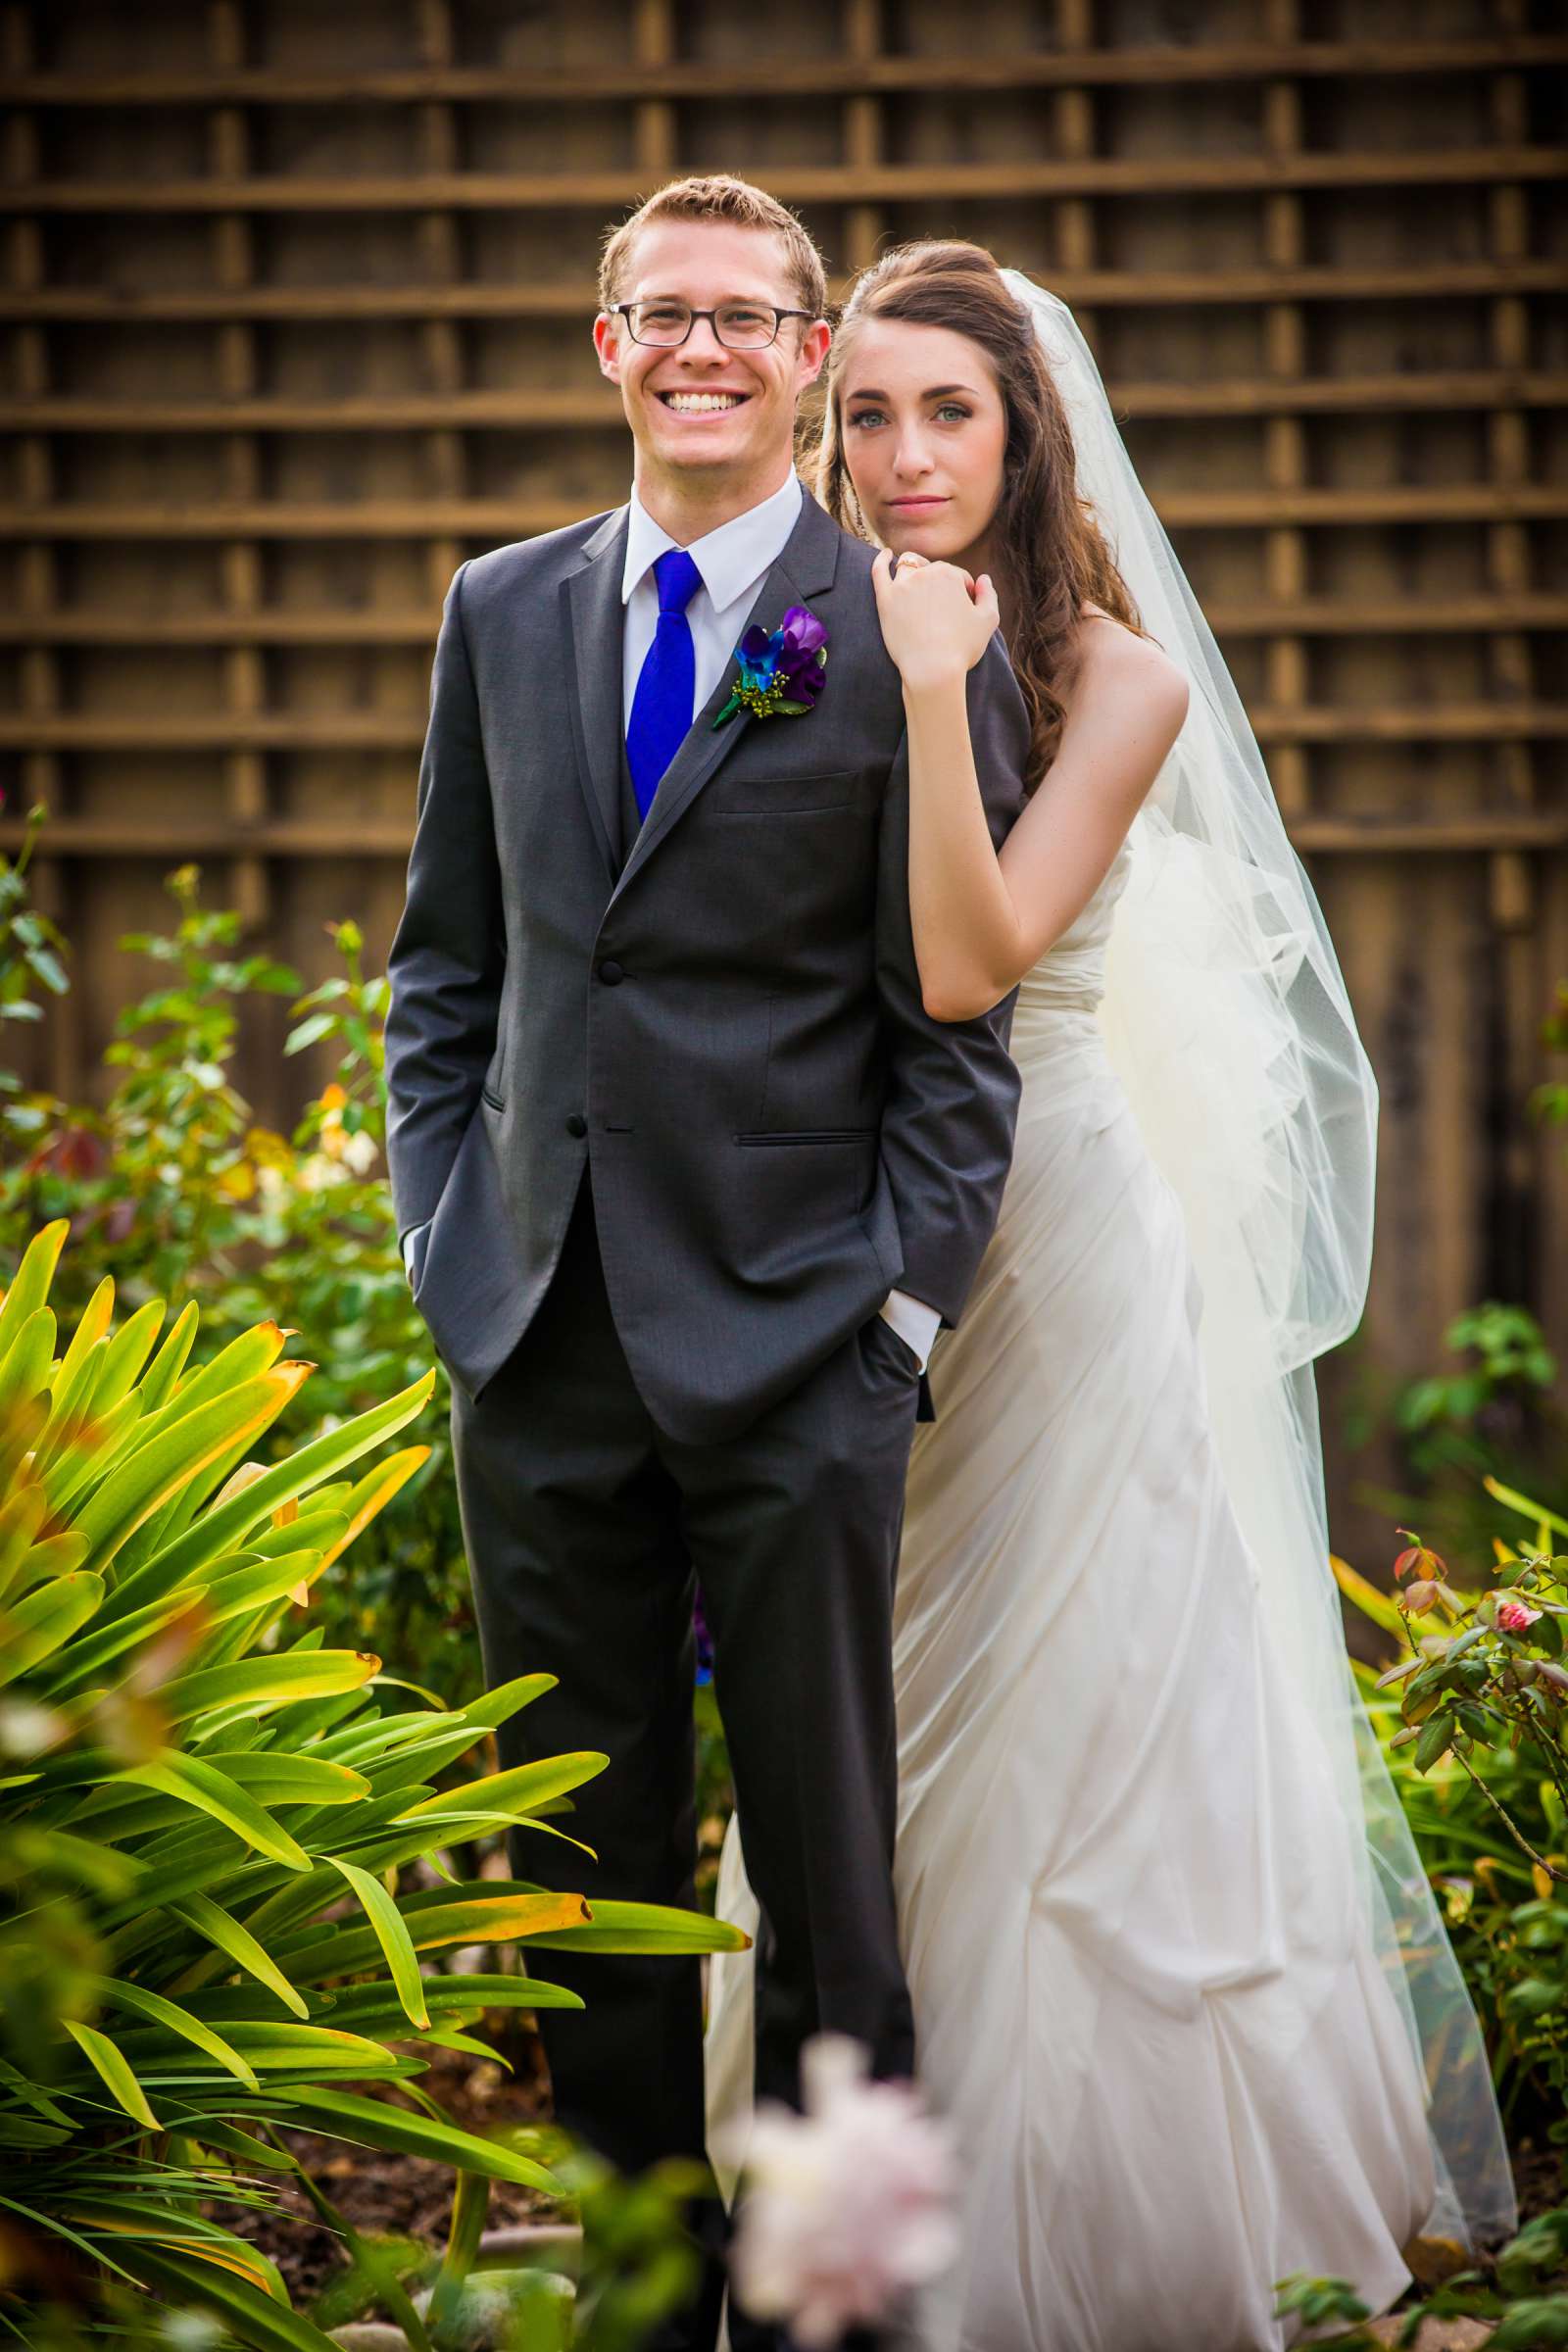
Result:
<svg viewBox="0 0 1568 2352"><path fill-rule="evenodd" d="M1356 1698L1312 1359L1359 1319L1375 1091L1213 635L1070 310L886 254L820 492L882 543L926 1007L1016 983L1001 1221L933 1359L896 1613L898 1903L961 2147L922 2352L1260 2352L1512 2225L1486 2056ZM985 828L1001 626L1034 790ZM719 1912L755 1924L731 1823ZM710 2145L750 2105L715 1971Z"/></svg>

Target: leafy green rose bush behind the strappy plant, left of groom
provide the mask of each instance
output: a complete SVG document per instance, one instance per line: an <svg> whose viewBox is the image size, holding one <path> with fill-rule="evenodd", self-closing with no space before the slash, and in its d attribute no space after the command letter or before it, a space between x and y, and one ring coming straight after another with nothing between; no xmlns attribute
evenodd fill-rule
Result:
<svg viewBox="0 0 1568 2352"><path fill-rule="evenodd" d="M240 953L235 913L200 906L195 866L169 875L169 894L172 931L120 941L162 976L115 1023L103 1108L19 1089L0 1098L0 1258L16 1265L28 1235L63 1216L63 1312L85 1310L113 1275L132 1308L165 1298L179 1310L200 1298L207 1348L263 1319L282 1324L289 1343L308 1334L308 1404L324 1425L430 1364L386 1183L386 978L364 978L360 931L339 922L329 931L343 971L301 997L287 964ZM24 861L0 861L0 1011L40 1016L40 988L66 985L63 941L40 934L31 948L21 936L38 920L26 908ZM336 1054L329 1084L289 1136L259 1127L230 1077L242 1016L277 997L292 1000L287 1054ZM428 1465L369 1529L353 1578L327 1571L317 1609L331 1642L374 1642L393 1672L461 1703L480 1689L480 1644L440 1367L435 1381Z"/></svg>

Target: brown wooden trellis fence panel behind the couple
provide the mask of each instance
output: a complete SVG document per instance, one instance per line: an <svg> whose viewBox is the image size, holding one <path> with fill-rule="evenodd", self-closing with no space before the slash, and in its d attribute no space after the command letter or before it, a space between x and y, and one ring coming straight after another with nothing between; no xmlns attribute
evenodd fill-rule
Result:
<svg viewBox="0 0 1568 2352"><path fill-rule="evenodd" d="M616 503L602 226L677 169L835 270L1065 294L1215 621L1385 1082L1371 1357L1568 1327L1523 1120L1568 974L1568 33L1554 0L9 0L0 842L87 1089L160 877L313 976L402 896L456 562ZM261 1115L294 1070L266 1023ZM1340 1472L1342 1484L1342 1472ZM1354 1534L1354 1529L1352 1529Z"/></svg>

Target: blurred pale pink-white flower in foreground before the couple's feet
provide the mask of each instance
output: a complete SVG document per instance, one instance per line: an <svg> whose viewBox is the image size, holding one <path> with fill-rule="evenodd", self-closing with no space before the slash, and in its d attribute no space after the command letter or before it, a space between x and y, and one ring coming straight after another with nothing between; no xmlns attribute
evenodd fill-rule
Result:
<svg viewBox="0 0 1568 2352"><path fill-rule="evenodd" d="M842 2034L802 2051L804 2114L764 2100L745 2150L731 2274L755 2319L837 2345L884 2319L959 2251L957 2159L907 2082L867 2082Z"/></svg>

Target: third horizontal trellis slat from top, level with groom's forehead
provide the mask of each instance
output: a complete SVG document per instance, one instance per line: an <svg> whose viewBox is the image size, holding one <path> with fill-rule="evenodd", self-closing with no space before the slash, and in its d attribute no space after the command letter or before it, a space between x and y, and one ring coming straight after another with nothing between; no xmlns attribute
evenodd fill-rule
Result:
<svg viewBox="0 0 1568 2352"><path fill-rule="evenodd" d="M1291 301L1458 301L1488 294L1561 292L1561 261L1455 261L1453 268L1295 270L1032 270L1077 308L1138 310L1192 303ZM846 280L830 280L842 301ZM346 287L38 287L0 294L0 318L101 325L176 325L209 318L592 318L595 292L581 285L346 285Z"/></svg>

